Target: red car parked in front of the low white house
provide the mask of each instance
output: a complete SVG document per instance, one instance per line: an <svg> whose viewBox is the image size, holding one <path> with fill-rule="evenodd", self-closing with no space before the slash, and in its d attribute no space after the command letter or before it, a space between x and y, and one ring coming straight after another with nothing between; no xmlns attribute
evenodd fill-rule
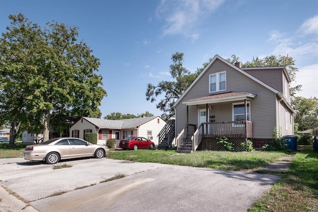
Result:
<svg viewBox="0 0 318 212"><path fill-rule="evenodd" d="M128 137L121 140L119 147L122 149L145 149L145 148L155 148L155 143L144 137Z"/></svg>

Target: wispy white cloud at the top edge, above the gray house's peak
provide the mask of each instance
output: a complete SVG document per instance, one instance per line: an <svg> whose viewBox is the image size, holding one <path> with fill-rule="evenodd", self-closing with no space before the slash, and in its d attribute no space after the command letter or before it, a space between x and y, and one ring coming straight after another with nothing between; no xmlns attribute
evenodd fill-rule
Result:
<svg viewBox="0 0 318 212"><path fill-rule="evenodd" d="M224 0L161 0L156 16L165 22L163 35L193 31L196 21L217 9Z"/></svg>

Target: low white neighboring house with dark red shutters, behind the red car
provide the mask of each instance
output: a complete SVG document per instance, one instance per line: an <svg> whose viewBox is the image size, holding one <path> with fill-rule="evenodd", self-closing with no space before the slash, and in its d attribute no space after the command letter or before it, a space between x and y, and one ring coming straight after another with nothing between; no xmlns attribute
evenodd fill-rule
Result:
<svg viewBox="0 0 318 212"><path fill-rule="evenodd" d="M97 144L104 145L106 140L119 141L130 136L141 136L159 144L158 134L166 122L159 116L109 120L81 117L70 129L70 137L84 138L86 132L97 133Z"/></svg>

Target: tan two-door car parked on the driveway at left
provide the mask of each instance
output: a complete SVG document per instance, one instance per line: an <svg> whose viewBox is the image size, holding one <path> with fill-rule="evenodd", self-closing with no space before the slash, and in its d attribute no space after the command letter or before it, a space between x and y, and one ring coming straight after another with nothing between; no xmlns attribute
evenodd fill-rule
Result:
<svg viewBox="0 0 318 212"><path fill-rule="evenodd" d="M23 158L54 164L59 162L60 159L103 158L108 153L109 149L105 145L91 144L79 138L53 138L40 144L26 146L23 151Z"/></svg>

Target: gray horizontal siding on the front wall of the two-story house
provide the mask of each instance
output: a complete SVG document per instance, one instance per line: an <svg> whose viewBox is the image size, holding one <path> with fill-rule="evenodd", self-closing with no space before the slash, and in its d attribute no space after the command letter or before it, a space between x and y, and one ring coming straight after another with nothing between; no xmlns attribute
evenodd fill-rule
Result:
<svg viewBox="0 0 318 212"><path fill-rule="evenodd" d="M246 92L257 95L250 102L253 138L272 138L273 130L276 126L276 94L219 59L211 65L176 106L176 134L186 125L186 105L182 104L182 102L212 94L219 94L220 92L209 93L209 75L222 71L226 71L226 92ZM198 109L205 107L205 105L189 106L189 123L197 125ZM214 104L212 107L210 115L215 115L215 121L232 121L232 102Z"/></svg>

